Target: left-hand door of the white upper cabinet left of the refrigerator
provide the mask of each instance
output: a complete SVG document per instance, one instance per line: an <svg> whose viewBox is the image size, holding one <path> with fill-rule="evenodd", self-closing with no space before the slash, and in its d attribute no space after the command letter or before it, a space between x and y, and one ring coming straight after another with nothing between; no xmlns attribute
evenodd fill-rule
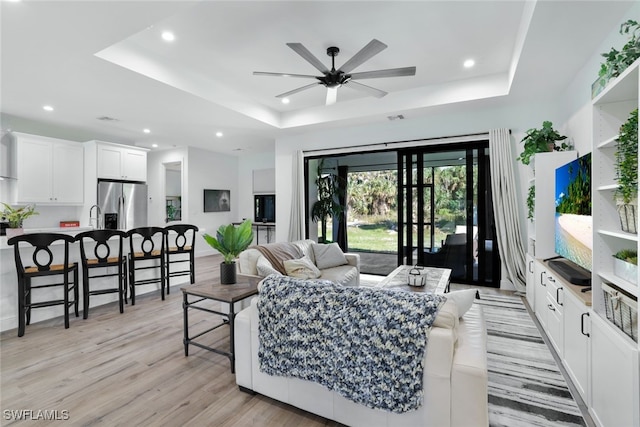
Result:
<svg viewBox="0 0 640 427"><path fill-rule="evenodd" d="M17 151L18 203L53 202L51 143L19 136Z"/></svg>

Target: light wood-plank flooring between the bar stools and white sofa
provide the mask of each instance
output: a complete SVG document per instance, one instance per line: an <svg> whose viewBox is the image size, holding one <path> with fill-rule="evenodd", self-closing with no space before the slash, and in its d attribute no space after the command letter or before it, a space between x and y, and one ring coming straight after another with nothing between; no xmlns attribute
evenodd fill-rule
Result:
<svg viewBox="0 0 640 427"><path fill-rule="evenodd" d="M218 277L220 256L198 258L197 280ZM191 310L197 330L216 316ZM205 328L202 327L202 330ZM209 345L228 348L228 328ZM92 308L89 319L62 318L0 336L1 425L7 410L68 411L60 425L145 426L338 426L261 395L241 392L225 356L189 348L184 356L182 292L171 289L136 297L136 305ZM10 418L10 417L9 417Z"/></svg>

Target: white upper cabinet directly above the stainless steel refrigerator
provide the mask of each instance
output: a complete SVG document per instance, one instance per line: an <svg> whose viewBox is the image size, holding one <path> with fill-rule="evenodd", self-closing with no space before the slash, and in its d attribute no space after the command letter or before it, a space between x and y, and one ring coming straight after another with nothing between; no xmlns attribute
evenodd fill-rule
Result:
<svg viewBox="0 0 640 427"><path fill-rule="evenodd" d="M147 181L147 151L124 145L97 145L98 178Z"/></svg>

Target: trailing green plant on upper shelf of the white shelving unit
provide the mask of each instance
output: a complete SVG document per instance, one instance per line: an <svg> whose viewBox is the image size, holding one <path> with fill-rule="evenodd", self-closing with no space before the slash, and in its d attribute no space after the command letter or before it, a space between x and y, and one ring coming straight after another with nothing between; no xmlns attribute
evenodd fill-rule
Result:
<svg viewBox="0 0 640 427"><path fill-rule="evenodd" d="M630 204L638 197L638 109L620 127L616 140L615 169L618 188L616 199Z"/></svg>

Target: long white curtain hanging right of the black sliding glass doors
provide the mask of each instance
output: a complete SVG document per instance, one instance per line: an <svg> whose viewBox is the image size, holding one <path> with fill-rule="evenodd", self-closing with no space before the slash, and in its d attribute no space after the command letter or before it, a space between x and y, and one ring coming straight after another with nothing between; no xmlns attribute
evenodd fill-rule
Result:
<svg viewBox="0 0 640 427"><path fill-rule="evenodd" d="M503 270L519 292L526 291L526 262L524 246L520 234L516 192L513 171L511 136L508 129L489 131L491 152L491 191L493 192L493 215L496 222L498 250Z"/></svg>

